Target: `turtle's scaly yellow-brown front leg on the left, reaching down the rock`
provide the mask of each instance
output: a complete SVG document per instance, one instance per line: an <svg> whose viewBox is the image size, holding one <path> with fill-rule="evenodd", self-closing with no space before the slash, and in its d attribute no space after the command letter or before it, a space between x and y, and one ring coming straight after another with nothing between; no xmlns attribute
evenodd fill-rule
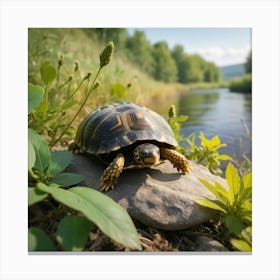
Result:
<svg viewBox="0 0 280 280"><path fill-rule="evenodd" d="M122 154L117 154L115 159L110 163L110 165L104 170L100 178L100 189L102 191L108 191L113 189L117 179L119 178L124 167L124 156Z"/></svg>

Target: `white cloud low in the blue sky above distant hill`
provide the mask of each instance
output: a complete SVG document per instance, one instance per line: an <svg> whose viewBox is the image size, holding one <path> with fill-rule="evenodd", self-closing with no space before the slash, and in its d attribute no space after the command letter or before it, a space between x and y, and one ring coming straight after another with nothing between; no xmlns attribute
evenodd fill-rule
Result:
<svg viewBox="0 0 280 280"><path fill-rule="evenodd" d="M205 60L214 62L218 66L244 63L250 51L250 46L242 48L223 48L220 46L199 48L189 51L201 55Z"/></svg>

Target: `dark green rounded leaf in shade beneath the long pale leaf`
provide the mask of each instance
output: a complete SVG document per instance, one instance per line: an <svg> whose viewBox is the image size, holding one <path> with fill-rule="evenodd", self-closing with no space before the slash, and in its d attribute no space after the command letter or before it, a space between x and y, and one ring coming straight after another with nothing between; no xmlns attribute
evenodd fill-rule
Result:
<svg viewBox="0 0 280 280"><path fill-rule="evenodd" d="M65 251L82 251L92 228L85 217L65 216L57 226L56 240Z"/></svg>

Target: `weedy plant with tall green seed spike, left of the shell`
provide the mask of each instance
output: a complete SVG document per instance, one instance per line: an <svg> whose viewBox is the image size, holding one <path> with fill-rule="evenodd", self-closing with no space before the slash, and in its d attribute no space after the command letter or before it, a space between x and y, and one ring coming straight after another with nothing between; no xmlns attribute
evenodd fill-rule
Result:
<svg viewBox="0 0 280 280"><path fill-rule="evenodd" d="M64 65L63 56L59 58L57 68L48 62L42 64L40 74L43 87L35 86L31 83L28 87L29 99L34 102L32 109L29 108L28 110L29 127L44 135L50 147L54 147L62 141L67 134L73 138L73 128L71 126L92 92L99 86L97 78L102 68L109 63L113 51L114 44L110 42L100 54L99 68L92 82L92 74L89 72L77 84L74 83L73 77L78 75L80 67L77 61L75 62L73 73L64 81L61 80L60 75ZM78 100L78 92L81 88L84 88L84 96L81 100ZM66 111L73 110L73 107L77 104L80 104L80 106L69 121L69 115L66 114Z"/></svg>

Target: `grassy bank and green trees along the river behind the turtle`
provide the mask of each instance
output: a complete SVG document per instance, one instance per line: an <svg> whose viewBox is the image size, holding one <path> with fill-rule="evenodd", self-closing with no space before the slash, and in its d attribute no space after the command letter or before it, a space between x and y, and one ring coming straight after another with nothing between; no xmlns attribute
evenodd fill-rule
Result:
<svg viewBox="0 0 280 280"><path fill-rule="evenodd" d="M116 46L115 55L111 66L104 69L99 76L100 86L94 100L88 100L88 108L116 100L149 106L159 97L168 99L170 96L198 88L229 87L234 91L242 92L245 83L246 92L248 91L247 78L244 82L242 78L222 81L221 73L213 63L204 61L198 55L190 56L184 53L182 46L177 45L172 50L169 50L164 42L162 45L153 46L143 32L137 31L133 36L128 36L125 29L121 28L29 29L29 82L42 85L40 78L42 64L47 62L56 68L61 63L63 65L60 67L59 79L68 81L63 89L71 90L77 87L79 79L89 72L97 71L98 50L102 49L102 46L108 42L105 41L110 38ZM156 53L153 47L156 48ZM159 61L160 65L155 66L152 57ZM173 61L170 62L172 65L176 61L177 70L171 68L177 78L173 77L174 73L168 72L170 69L168 65L163 69L161 58ZM163 73L155 75L153 69L159 72L158 67L161 67ZM183 67L189 70L184 72ZM173 78L170 78L170 75ZM189 80L186 76L190 76ZM85 85L82 85L77 90L75 94L77 98L83 95L84 88ZM81 117L84 116L81 114Z"/></svg>

